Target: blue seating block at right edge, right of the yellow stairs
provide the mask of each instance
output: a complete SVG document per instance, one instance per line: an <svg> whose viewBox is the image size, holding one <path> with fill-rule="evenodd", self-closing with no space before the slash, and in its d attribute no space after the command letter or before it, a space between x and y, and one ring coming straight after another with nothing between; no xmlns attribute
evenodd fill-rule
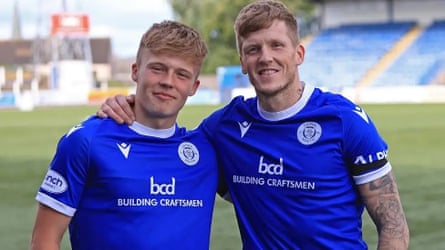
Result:
<svg viewBox="0 0 445 250"><path fill-rule="evenodd" d="M445 69L445 20L434 21L373 86L427 85Z"/></svg>

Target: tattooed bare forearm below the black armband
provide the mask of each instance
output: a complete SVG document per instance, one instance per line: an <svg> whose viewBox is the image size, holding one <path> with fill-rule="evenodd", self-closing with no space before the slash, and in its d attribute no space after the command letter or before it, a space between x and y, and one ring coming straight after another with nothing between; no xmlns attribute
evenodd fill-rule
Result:
<svg viewBox="0 0 445 250"><path fill-rule="evenodd" d="M408 223L392 172L359 185L359 192L376 225L378 249L408 249Z"/></svg>

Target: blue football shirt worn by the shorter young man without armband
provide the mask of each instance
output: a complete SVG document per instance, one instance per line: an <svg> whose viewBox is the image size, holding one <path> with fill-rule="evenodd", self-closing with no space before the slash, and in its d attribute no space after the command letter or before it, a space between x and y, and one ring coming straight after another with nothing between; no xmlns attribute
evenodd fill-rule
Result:
<svg viewBox="0 0 445 250"><path fill-rule="evenodd" d="M58 143L36 199L73 249L208 249L217 163L202 133L90 118Z"/></svg>

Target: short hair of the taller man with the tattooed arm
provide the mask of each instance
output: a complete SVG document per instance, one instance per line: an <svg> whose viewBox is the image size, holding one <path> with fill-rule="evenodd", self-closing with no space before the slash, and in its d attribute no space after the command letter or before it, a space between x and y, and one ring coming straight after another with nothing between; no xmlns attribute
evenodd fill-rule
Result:
<svg viewBox="0 0 445 250"><path fill-rule="evenodd" d="M245 37L252 32L270 27L275 20L284 21L291 41L295 45L300 43L297 20L287 6L275 0L259 0L246 5L236 17L234 30L238 53L241 54L241 45Z"/></svg>

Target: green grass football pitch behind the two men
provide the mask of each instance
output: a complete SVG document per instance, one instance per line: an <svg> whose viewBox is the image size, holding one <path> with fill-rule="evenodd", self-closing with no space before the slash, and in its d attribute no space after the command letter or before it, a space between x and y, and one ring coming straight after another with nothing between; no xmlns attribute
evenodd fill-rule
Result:
<svg viewBox="0 0 445 250"><path fill-rule="evenodd" d="M410 249L445 249L445 105L363 105L389 144L389 159L410 226ZM28 249L36 191L59 137L98 106L0 110L0 248ZM195 127L217 106L186 106L180 125ZM364 237L376 249L364 213ZM178 221L178 223L181 223ZM69 249L64 239L62 249ZM217 198L211 249L241 249L229 203Z"/></svg>

